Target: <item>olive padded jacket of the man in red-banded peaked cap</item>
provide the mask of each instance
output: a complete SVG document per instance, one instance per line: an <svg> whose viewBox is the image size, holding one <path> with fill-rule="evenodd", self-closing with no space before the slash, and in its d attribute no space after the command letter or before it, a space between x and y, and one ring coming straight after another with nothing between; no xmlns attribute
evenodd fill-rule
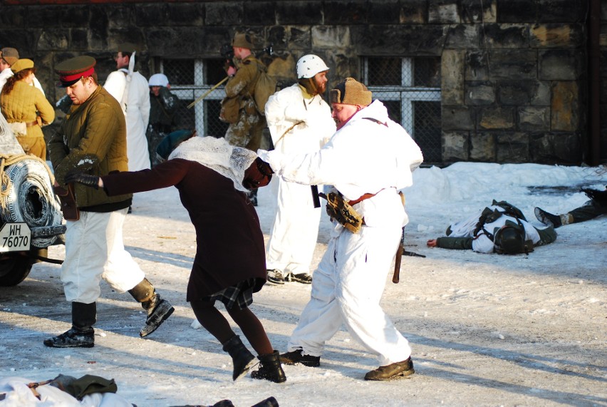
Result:
<svg viewBox="0 0 607 407"><path fill-rule="evenodd" d="M48 151L59 185L73 168L103 176L128 171L125 115L120 104L102 86L81 105L72 105L61 128L48 142ZM93 212L128 207L132 194L108 197L97 190L75 184L76 205ZM127 202L128 201L128 202ZM119 205L119 202L125 202ZM105 207L99 207L105 205ZM90 208L93 207L93 208Z"/></svg>

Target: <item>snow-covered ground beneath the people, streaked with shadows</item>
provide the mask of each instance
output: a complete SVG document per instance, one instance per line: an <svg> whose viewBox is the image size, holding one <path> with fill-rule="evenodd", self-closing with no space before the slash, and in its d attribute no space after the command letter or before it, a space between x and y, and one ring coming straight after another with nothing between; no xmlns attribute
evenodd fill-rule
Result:
<svg viewBox="0 0 607 407"><path fill-rule="evenodd" d="M400 284L386 282L383 307L410 340L416 373L363 380L375 357L341 330L320 368L285 366L286 383L232 382L217 341L194 329L185 290L194 228L175 188L135 196L125 244L175 314L148 339L128 294L102 284L92 349L48 349L42 341L69 328L59 267L36 264L17 287L0 287L0 378L42 381L59 373L115 378L118 394L144 406L251 406L274 396L281 406L607 406L607 217L561 227L556 242L529 255L500 256L426 247L450 222L492 199L517 205L537 227L535 206L566 212L582 205L579 187L603 188L607 168L457 163L420 168L406 190L406 247ZM212 194L209 195L212 199ZM271 189L259 192L268 237ZM328 237L323 222L314 257ZM52 247L63 258L63 246ZM276 349L286 350L310 286L266 285L252 308ZM0 403L1 405L1 403Z"/></svg>

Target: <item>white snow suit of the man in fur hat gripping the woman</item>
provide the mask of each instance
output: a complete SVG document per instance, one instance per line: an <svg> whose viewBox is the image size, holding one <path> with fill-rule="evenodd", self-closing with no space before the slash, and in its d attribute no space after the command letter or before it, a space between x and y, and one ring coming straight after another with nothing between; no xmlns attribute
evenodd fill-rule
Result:
<svg viewBox="0 0 607 407"><path fill-rule="evenodd" d="M303 349L304 354L321 356L325 342L345 324L378 356L381 366L407 359L409 343L381 308L380 299L408 222L398 190L413 184L411 172L422 163L420 148L388 118L383 103L374 101L316 153L260 150L259 155L285 180L334 185L346 200L376 194L354 205L365 219L358 234L335 225L289 351Z"/></svg>

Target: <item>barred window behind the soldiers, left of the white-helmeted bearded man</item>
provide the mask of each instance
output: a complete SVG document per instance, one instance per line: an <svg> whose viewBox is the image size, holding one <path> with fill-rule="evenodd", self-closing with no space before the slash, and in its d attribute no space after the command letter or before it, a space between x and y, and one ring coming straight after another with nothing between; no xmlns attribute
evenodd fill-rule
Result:
<svg viewBox="0 0 607 407"><path fill-rule="evenodd" d="M219 108L225 96L225 82L214 88L226 77L223 59L159 59L156 62L157 72L169 78L171 92L180 99L176 113L179 128L195 128L199 135L223 137L228 124L219 120ZM187 108L206 93L202 101Z"/></svg>

